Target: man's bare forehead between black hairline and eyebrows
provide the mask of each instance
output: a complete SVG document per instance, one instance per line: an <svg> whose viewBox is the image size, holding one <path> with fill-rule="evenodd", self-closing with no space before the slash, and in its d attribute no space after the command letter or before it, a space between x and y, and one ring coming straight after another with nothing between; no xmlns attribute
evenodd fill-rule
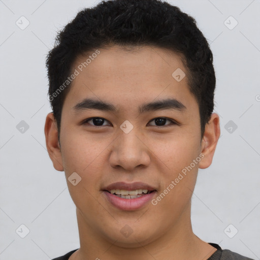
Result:
<svg viewBox="0 0 260 260"><path fill-rule="evenodd" d="M194 102L181 56L170 50L151 46L101 48L78 56L75 70L78 75L68 93L71 107L84 98L112 102L117 108L156 98Z"/></svg>

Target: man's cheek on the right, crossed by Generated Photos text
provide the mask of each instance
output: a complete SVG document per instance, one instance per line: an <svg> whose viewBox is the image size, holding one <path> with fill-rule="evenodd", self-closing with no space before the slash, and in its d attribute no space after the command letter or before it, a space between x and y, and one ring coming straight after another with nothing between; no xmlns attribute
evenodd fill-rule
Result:
<svg viewBox="0 0 260 260"><path fill-rule="evenodd" d="M158 156L164 158L165 167L161 172L161 187L158 194L158 212L164 212L170 206L172 217L177 217L176 212L184 210L190 201L196 184L199 161L200 139L191 137L173 138L160 146ZM194 163L193 160L197 161ZM156 203L155 201L155 203ZM169 212L168 212L169 213Z"/></svg>

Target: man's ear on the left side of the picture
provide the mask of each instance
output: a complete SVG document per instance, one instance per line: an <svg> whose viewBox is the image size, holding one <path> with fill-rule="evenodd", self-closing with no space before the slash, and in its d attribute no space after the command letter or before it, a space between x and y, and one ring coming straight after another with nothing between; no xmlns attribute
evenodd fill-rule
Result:
<svg viewBox="0 0 260 260"><path fill-rule="evenodd" d="M45 140L46 140L46 147L47 147L49 156L52 160L53 167L57 171L60 171L60 172L64 171L60 146L59 146L59 142L58 142L57 124L56 124L56 120L55 120L52 112L49 113L46 117L44 134L45 134Z"/></svg>

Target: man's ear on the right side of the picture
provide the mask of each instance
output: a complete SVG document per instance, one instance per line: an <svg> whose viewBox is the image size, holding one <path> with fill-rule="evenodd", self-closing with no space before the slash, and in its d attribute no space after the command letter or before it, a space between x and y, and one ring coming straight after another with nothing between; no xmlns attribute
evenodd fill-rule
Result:
<svg viewBox="0 0 260 260"><path fill-rule="evenodd" d="M205 169L211 165L219 136L219 116L216 113L213 113L209 122L205 126L205 132L201 144L201 153L204 154L204 157L199 163L199 168Z"/></svg>

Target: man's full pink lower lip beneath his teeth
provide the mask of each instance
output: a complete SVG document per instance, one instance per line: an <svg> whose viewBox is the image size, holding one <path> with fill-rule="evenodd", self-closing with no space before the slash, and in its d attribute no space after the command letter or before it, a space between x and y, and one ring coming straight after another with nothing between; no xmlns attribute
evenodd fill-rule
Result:
<svg viewBox="0 0 260 260"><path fill-rule="evenodd" d="M137 210L144 207L149 201L152 200L156 191L152 191L149 194L145 194L136 199L123 199L111 194L108 191L104 191L108 201L118 209L121 210Z"/></svg>

